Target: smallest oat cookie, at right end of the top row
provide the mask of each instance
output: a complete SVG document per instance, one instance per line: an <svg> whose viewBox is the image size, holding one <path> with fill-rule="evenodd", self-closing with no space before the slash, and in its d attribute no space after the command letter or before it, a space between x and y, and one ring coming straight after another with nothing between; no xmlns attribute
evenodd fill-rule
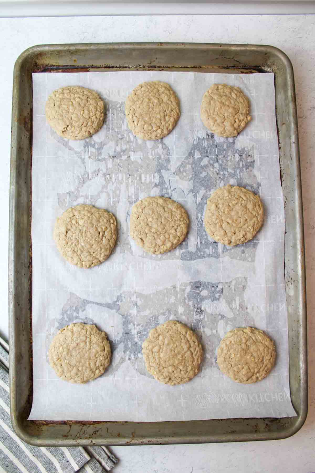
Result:
<svg viewBox="0 0 315 473"><path fill-rule="evenodd" d="M236 136L251 120L249 100L240 88L214 84L201 101L201 120L217 136Z"/></svg>

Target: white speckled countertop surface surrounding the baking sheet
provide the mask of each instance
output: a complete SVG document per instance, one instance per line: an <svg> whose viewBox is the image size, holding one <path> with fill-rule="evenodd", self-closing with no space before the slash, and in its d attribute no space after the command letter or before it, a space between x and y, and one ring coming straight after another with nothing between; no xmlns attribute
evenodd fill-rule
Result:
<svg viewBox="0 0 315 473"><path fill-rule="evenodd" d="M101 42L271 44L293 63L302 168L308 311L308 417L286 440L113 447L113 471L138 473L315 472L315 15L0 18L0 333L8 335L8 221L12 75L34 44Z"/></svg>

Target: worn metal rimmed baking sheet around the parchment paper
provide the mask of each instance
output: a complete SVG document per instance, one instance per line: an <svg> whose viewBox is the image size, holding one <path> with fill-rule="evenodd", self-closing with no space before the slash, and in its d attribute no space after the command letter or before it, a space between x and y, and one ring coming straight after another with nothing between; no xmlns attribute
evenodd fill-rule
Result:
<svg viewBox="0 0 315 473"><path fill-rule="evenodd" d="M31 73L40 70L156 70L156 68L207 72L232 71L234 73L272 71L275 74L276 115L287 232L285 276L289 323L290 392L293 405L298 412L297 418L255 419L255 422L253 422L254 419L233 419L145 424L75 422L70 425L66 423L68 429L65 429L63 423L47 424L26 421L32 401L30 332L32 275L30 254ZM75 445L77 443L91 443L91 440L99 445L124 444L129 441L133 444L213 442L281 438L291 435L303 424L306 416L303 226L293 72L289 60L283 53L268 46L211 44L62 45L31 48L20 56L16 64L12 145L10 350L13 355L11 356L11 402L13 424L21 436L25 439L28 438L27 441L30 443L39 445ZM292 194L294 194L294 198L291 198ZM24 275L27 268L28 279L25 276L21 278L21 268ZM292 277L296 279L292 279ZM19 312L17 315L18 304L21 304L22 301L24 302L23 307L28 307L28 313L26 314L27 311ZM16 317L21 322L23 315L26 318L23 320L23 324L19 324ZM20 345L21 341L23 347ZM22 354L24 356L23 362L26 363L25 370L22 371L24 379L23 377L17 379L16 363ZM69 433L66 434L65 432L68 430ZM67 437L62 437L63 435L67 435Z"/></svg>

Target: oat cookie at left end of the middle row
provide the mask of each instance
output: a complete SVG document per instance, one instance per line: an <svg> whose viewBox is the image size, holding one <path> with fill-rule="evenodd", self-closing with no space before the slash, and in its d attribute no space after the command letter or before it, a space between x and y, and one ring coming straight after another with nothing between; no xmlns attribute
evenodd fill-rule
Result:
<svg viewBox="0 0 315 473"><path fill-rule="evenodd" d="M93 205L70 207L56 220L53 237L60 254L79 268L107 260L117 236L111 212Z"/></svg>

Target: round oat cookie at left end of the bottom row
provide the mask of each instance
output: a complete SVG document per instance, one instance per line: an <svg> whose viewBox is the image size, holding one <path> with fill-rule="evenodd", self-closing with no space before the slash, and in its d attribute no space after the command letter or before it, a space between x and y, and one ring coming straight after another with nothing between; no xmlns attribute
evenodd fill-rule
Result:
<svg viewBox="0 0 315 473"><path fill-rule="evenodd" d="M95 325L70 324L53 338L48 358L61 379L86 383L104 373L111 362L111 346Z"/></svg>

